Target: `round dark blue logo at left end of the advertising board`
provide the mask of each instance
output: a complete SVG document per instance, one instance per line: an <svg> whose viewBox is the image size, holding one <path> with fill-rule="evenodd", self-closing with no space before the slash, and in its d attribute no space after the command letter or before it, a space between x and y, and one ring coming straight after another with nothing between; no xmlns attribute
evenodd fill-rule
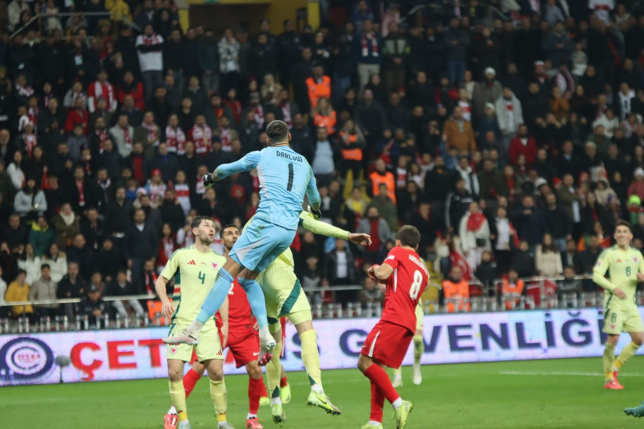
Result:
<svg viewBox="0 0 644 429"><path fill-rule="evenodd" d="M52 367L52 349L40 339L14 338L0 348L1 381L37 379Z"/></svg>

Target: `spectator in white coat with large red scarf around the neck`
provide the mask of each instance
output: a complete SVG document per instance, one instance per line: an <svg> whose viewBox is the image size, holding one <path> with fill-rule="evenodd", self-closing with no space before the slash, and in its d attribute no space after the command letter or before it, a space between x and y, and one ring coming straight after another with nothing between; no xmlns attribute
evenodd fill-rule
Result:
<svg viewBox="0 0 644 429"><path fill-rule="evenodd" d="M476 270L483 251L491 248L488 220L481 213L477 202L471 202L468 213L460 219L459 237L469 266Z"/></svg>

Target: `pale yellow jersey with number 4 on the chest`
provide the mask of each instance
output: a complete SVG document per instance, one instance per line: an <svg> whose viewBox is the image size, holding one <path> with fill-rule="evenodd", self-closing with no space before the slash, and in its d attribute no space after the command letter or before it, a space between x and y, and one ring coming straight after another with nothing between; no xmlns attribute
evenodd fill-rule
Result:
<svg viewBox="0 0 644 429"><path fill-rule="evenodd" d="M200 252L193 246L178 249L172 254L161 275L171 280L175 276L172 307L175 312L171 323L189 325L196 319L205 297L214 285L219 269L226 258L208 251ZM206 325L214 325L214 318Z"/></svg>

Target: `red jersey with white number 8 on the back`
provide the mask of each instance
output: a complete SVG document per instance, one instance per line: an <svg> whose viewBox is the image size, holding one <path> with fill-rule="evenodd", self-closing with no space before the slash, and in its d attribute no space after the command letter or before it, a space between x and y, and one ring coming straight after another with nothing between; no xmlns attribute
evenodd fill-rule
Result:
<svg viewBox="0 0 644 429"><path fill-rule="evenodd" d="M393 273L387 279L381 320L416 330L415 308L427 287L430 273L421 257L412 250L394 247L384 262Z"/></svg>

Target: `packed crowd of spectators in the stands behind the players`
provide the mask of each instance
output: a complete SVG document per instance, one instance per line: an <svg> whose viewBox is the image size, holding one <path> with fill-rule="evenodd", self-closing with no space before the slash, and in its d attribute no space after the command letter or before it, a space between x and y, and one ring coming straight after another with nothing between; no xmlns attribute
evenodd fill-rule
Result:
<svg viewBox="0 0 644 429"><path fill-rule="evenodd" d="M95 314L97 292L152 293L159 267L191 245L192 216L243 225L254 214L255 171L211 189L201 177L263 148L274 119L312 165L325 220L373 238L299 235L305 289L363 282L357 298L381 301L365 266L412 224L455 289L565 274L564 288L594 291L573 277L592 272L616 220L634 225L634 247L644 240L641 4L471 0L421 26L401 23L413 2L385 3L383 14L351 5L341 28L287 20L275 35L265 20L251 35L183 32L171 0L11 1L0 301L86 296L79 311Z"/></svg>

